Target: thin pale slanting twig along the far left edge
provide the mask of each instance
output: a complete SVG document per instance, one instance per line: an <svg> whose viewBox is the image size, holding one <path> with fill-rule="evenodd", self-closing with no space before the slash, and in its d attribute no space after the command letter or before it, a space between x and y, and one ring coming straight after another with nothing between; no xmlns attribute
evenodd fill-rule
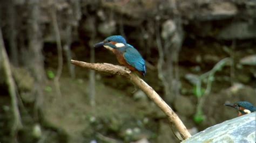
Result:
<svg viewBox="0 0 256 143"><path fill-rule="evenodd" d="M10 62L8 59L8 55L6 54L4 41L2 36L2 31L0 29L0 53L1 58L0 61L3 61L3 69L6 75L6 83L8 84L9 94L11 96L11 106L12 111L14 113L14 124L12 125L11 135L15 137L15 133L17 130L22 128L21 115L19 113L18 101L16 95L16 84L14 82L14 78L12 77Z"/></svg>

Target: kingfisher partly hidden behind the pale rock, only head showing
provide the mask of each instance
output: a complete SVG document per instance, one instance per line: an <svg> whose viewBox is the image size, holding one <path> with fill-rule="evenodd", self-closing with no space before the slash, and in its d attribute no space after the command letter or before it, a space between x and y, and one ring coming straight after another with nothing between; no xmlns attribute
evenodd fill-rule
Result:
<svg viewBox="0 0 256 143"><path fill-rule="evenodd" d="M245 115L247 113L251 113L256 111L256 107L253 106L252 103L246 101L239 101L234 104L224 104L225 106L231 106L234 109L237 109L238 116Z"/></svg>

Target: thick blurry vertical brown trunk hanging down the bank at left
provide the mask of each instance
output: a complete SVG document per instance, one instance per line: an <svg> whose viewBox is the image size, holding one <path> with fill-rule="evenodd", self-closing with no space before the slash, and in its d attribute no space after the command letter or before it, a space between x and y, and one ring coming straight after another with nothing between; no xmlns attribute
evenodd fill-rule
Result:
<svg viewBox="0 0 256 143"><path fill-rule="evenodd" d="M30 59L28 62L28 67L32 71L33 77L35 77L36 84L36 103L35 109L40 109L43 103L43 90L42 84L45 80L45 70L44 70L44 58L42 54L43 48L43 39L42 32L39 27L39 17L40 17L40 8L39 0L30 0L28 2L29 8L29 56Z"/></svg>

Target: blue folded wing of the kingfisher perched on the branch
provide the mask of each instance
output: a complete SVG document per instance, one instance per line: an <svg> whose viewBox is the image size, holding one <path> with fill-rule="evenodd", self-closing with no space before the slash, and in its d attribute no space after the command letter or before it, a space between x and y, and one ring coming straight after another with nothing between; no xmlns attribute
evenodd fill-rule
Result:
<svg viewBox="0 0 256 143"><path fill-rule="evenodd" d="M124 59L132 67L136 68L139 71L142 71L143 73L146 73L145 61L136 48L126 48L124 52Z"/></svg>

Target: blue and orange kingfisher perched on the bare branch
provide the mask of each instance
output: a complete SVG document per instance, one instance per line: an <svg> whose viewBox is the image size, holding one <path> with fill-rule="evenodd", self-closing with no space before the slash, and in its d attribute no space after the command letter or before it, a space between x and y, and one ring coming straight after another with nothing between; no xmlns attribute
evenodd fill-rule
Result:
<svg viewBox="0 0 256 143"><path fill-rule="evenodd" d="M109 51L112 51L120 65L126 66L131 71L138 71L145 76L146 66L145 60L142 55L132 45L127 44L124 37L121 35L112 35L107 37L104 41L94 45L94 47L105 47Z"/></svg>

